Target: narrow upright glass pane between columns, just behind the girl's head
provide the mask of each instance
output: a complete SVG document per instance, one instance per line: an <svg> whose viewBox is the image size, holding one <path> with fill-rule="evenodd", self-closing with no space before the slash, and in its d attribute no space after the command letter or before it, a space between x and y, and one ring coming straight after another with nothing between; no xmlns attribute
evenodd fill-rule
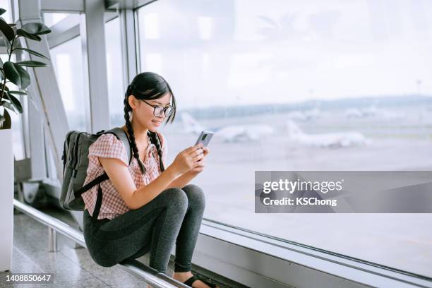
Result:
<svg viewBox="0 0 432 288"><path fill-rule="evenodd" d="M105 42L107 44L107 74L110 126L124 125L124 87L123 61L121 56L121 35L119 18L105 23Z"/></svg>

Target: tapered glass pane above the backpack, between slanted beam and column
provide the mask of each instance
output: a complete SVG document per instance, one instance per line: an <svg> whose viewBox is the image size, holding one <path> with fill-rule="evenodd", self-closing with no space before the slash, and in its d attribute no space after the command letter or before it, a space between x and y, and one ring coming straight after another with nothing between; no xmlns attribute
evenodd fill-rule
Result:
<svg viewBox="0 0 432 288"><path fill-rule="evenodd" d="M52 64L59 84L61 100L70 130L85 131L85 102L83 57L80 37L75 37L50 50Z"/></svg>

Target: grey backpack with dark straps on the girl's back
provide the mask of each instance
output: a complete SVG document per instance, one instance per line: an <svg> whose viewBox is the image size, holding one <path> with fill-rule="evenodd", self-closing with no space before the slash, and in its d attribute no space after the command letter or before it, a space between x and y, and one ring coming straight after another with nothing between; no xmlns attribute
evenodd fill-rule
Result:
<svg viewBox="0 0 432 288"><path fill-rule="evenodd" d="M60 205L66 210L83 211L85 203L81 195L93 186L99 185L102 181L109 179L107 172L97 176L94 180L83 186L87 177L88 168L88 148L97 138L103 134L113 134L117 139L123 141L128 154L129 165L132 160L131 145L125 131L119 127L112 128L108 131L99 131L96 134L69 131L66 134L63 147L63 183L61 184ZM102 204L102 190L99 185L97 200L94 214L99 214L100 205Z"/></svg>

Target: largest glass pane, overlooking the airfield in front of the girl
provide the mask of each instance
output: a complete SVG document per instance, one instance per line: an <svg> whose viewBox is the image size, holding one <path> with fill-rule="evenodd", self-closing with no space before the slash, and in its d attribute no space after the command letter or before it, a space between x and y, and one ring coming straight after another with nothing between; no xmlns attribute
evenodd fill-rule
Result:
<svg viewBox="0 0 432 288"><path fill-rule="evenodd" d="M141 71L164 76L179 104L169 160L216 132L193 180L205 217L432 277L420 257L432 215L254 213L256 170L432 169L431 13L408 0L140 8Z"/></svg>

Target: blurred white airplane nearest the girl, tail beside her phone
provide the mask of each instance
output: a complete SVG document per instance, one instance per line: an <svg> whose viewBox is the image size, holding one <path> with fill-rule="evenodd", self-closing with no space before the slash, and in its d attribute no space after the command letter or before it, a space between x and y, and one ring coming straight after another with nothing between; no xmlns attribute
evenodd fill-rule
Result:
<svg viewBox="0 0 432 288"><path fill-rule="evenodd" d="M198 123L191 114L182 112L181 121L186 133L200 133L201 131L213 131L215 136L224 142L238 142L244 140L258 140L261 136L275 133L275 128L265 124L229 125L221 127L205 127Z"/></svg>

